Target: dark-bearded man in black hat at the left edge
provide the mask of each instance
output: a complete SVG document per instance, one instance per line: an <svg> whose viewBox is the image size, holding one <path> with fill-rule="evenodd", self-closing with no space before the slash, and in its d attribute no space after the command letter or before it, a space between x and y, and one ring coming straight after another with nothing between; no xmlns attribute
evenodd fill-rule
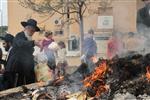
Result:
<svg viewBox="0 0 150 100"><path fill-rule="evenodd" d="M10 57L13 55L12 43L13 43L14 36L11 34L6 34L4 37L0 37L0 39L3 40L3 47L5 51L8 52L4 60L0 59L0 63L3 64L5 67L4 74L3 74L3 81L2 81L3 89L8 89L14 87L15 84L15 72L9 70L8 67L9 65L8 62L10 60Z"/></svg>

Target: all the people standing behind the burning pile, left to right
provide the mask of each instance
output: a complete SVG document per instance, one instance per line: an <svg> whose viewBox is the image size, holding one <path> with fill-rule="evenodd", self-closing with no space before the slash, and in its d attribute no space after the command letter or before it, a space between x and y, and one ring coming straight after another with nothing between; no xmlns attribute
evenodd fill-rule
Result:
<svg viewBox="0 0 150 100"><path fill-rule="evenodd" d="M39 69L35 68L36 66L47 67L43 72L41 71L41 75L43 73L50 75L46 74L50 70L53 79L66 74L65 69L68 64L65 43L63 41L55 42L51 31L45 31L43 40L33 40L34 33L40 31L37 21L34 19L23 21L21 25L24 30L17 33L15 37L11 34L0 37L3 40L5 51L8 52L6 58L3 59L3 53L0 49L0 65L4 66L4 68L0 66L0 73L3 74L3 78L0 76L0 90L34 83L37 80L41 81L42 78L37 78L39 76L37 70ZM85 34L82 44L84 52L81 56L81 65L86 64L88 66L87 74L94 70L94 67L91 66L94 64L93 58L97 56L97 44L93 35L94 30L90 29ZM113 33L107 44L108 59L120 55L125 49L127 49L128 54L134 54L139 44L134 35L135 33L129 32L127 39L123 42L116 33ZM35 46L40 48L37 56L33 56Z"/></svg>

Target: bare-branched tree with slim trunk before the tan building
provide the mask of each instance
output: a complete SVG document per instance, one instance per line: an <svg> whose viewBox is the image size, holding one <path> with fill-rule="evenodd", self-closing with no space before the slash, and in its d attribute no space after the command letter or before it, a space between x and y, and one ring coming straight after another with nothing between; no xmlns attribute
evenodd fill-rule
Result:
<svg viewBox="0 0 150 100"><path fill-rule="evenodd" d="M52 16L58 13L66 16L65 22L77 22L80 27L80 43L82 46L84 38L83 15L87 10L87 5L93 2L107 2L111 0L18 0L23 7L30 8L39 14ZM104 3L106 4L106 3ZM105 5L104 5L105 6ZM106 6L105 6L106 7ZM70 17L75 15L75 17ZM81 48L81 47L80 47ZM81 48L81 54L82 54Z"/></svg>

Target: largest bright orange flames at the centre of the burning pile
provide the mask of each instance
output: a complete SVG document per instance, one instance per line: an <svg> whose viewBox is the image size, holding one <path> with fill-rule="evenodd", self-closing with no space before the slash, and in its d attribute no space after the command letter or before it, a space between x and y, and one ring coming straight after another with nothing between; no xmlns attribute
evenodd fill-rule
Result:
<svg viewBox="0 0 150 100"><path fill-rule="evenodd" d="M86 77L83 80L84 86L86 88L91 87L96 92L96 96L100 96L101 93L108 90L108 86L103 81L106 71L107 64L106 61L104 61L95 68L95 71L90 76Z"/></svg>

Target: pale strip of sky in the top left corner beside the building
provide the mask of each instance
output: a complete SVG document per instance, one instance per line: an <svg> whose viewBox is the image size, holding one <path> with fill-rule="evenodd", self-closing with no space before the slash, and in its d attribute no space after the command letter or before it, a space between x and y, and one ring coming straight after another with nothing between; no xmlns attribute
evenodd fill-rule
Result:
<svg viewBox="0 0 150 100"><path fill-rule="evenodd" d="M0 26L7 25L7 0L0 0Z"/></svg>

